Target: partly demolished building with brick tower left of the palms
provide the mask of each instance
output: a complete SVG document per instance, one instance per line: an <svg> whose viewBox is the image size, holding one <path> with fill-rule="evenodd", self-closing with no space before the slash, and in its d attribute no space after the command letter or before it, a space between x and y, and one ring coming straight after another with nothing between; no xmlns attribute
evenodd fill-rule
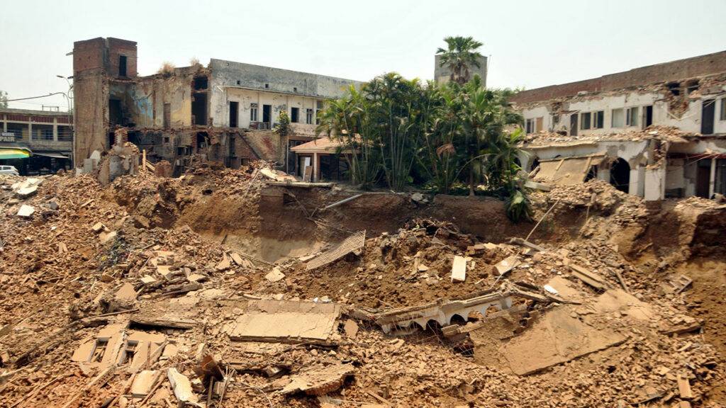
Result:
<svg viewBox="0 0 726 408"><path fill-rule="evenodd" d="M93 38L73 46L77 166L105 152L123 128L150 162L166 160L175 174L195 163L237 168L250 160L277 162L298 173L290 147L316 136L326 99L357 81L212 59L207 67L163 68L139 76L136 42ZM290 132L273 131L285 112ZM125 141L124 141L125 142Z"/></svg>

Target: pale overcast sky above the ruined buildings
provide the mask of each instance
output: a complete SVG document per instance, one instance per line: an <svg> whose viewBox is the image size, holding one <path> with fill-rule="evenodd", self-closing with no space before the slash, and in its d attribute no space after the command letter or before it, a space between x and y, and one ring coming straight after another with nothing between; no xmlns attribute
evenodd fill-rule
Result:
<svg viewBox="0 0 726 408"><path fill-rule="evenodd" d="M0 89L68 89L73 41L138 42L139 74L211 57L367 81L433 78L444 36L491 55L489 86L526 89L726 49L725 0L9 1L0 12ZM63 97L11 102L40 109Z"/></svg>

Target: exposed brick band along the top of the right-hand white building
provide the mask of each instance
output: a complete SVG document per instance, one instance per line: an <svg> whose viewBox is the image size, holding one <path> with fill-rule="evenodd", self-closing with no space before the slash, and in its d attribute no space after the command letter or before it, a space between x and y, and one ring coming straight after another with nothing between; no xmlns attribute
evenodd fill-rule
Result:
<svg viewBox="0 0 726 408"><path fill-rule="evenodd" d="M726 72L726 51L706 54L685 60L648 65L621 73L613 73L600 78L544 86L521 91L510 100L515 103L529 103L547 99L570 97L578 92L613 91L615 89L642 86L650 83L679 81L685 78L705 76Z"/></svg>

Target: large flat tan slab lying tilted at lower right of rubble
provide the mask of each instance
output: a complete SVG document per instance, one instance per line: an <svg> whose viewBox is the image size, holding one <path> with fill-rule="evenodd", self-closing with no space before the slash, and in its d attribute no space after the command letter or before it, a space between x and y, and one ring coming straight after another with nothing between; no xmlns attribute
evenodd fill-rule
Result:
<svg viewBox="0 0 726 408"><path fill-rule="evenodd" d="M627 339L618 332L597 330L572 317L573 307L551 309L529 330L499 347L515 374L528 375Z"/></svg>

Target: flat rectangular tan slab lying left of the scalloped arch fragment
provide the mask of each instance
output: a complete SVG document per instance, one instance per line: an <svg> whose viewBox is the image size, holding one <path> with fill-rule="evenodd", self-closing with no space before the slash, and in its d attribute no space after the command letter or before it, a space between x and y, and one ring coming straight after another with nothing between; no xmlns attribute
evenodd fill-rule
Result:
<svg viewBox="0 0 726 408"><path fill-rule="evenodd" d="M250 301L229 336L232 340L285 343L333 340L340 305L303 301Z"/></svg>

